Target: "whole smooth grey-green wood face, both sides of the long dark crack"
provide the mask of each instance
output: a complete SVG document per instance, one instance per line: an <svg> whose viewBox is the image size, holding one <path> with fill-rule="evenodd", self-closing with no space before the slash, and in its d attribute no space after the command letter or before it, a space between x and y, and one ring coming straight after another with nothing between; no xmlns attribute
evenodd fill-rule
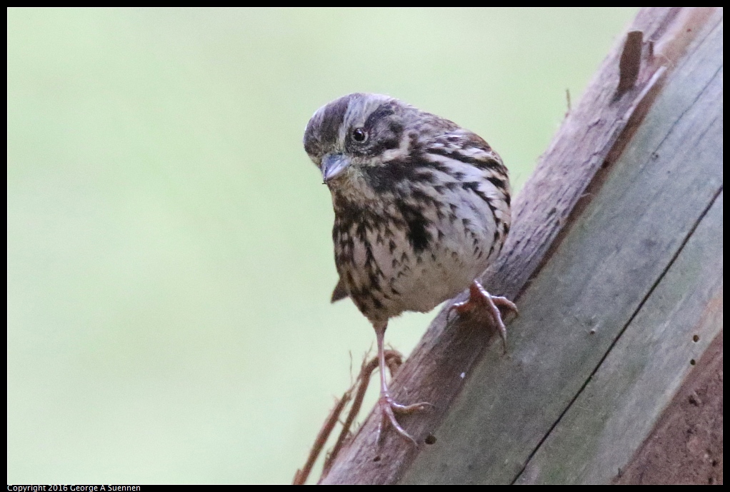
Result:
<svg viewBox="0 0 730 492"><path fill-rule="evenodd" d="M713 20L521 296L510 354L487 351L401 482L606 482L721 329L721 309L695 326L722 295L721 15ZM714 272L709 285L699 269ZM693 329L700 342L689 345ZM613 390L600 391L594 372Z"/></svg>

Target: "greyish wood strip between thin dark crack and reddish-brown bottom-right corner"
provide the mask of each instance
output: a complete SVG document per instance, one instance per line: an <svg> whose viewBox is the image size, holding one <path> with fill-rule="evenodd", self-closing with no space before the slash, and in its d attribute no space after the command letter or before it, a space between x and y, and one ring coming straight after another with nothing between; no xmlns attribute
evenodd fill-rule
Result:
<svg viewBox="0 0 730 492"><path fill-rule="evenodd" d="M722 206L721 194L518 483L610 483L629 464L722 329Z"/></svg>

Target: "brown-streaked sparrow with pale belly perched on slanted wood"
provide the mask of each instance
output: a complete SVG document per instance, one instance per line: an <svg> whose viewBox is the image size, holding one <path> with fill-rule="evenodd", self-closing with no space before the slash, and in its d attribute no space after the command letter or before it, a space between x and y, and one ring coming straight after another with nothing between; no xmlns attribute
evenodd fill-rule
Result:
<svg viewBox="0 0 730 492"><path fill-rule="evenodd" d="M411 439L395 413L426 402L393 401L385 381L388 319L426 312L469 287L459 313L483 306L506 334L498 305L475 280L510 231L510 185L502 159L481 137L398 99L353 93L315 112L304 150L334 206L336 301L349 295L375 328L383 423Z"/></svg>

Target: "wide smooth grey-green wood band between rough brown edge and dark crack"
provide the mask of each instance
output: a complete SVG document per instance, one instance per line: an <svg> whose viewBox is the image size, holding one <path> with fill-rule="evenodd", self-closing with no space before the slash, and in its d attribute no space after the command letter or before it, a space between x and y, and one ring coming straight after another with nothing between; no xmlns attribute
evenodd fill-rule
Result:
<svg viewBox="0 0 730 492"><path fill-rule="evenodd" d="M690 51L405 483L515 480L720 192L721 21Z"/></svg>

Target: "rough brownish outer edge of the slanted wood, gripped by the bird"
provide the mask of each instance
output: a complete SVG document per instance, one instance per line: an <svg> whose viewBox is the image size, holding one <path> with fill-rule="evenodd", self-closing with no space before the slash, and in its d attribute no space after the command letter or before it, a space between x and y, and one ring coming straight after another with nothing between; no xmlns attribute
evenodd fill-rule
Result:
<svg viewBox="0 0 730 492"><path fill-rule="evenodd" d="M515 199L513 228L507 244L496 264L482 278L491 293L519 299L529 280L548 261L576 214L591 200L592 193L586 191L600 185L601 180L596 177L600 178L621 155L661 90L666 72L676 66L713 12L714 9L677 8L639 12L627 30L642 31L645 40L633 87L622 88L623 93L617 98L624 35L607 55L580 104L566 117L534 174ZM462 294L457 299L464 297ZM401 418L402 425L419 446L387 431L383 442L378 444L380 415L371 412L350 445L334 461L323 483L399 480L423 449L429 431L445 418L461 388L446 382L452 379L454 371L472 368L489 342L480 320L447 321L445 312L440 312L391 384L397 400L431 401L436 408ZM468 377L469 371L462 374Z"/></svg>

